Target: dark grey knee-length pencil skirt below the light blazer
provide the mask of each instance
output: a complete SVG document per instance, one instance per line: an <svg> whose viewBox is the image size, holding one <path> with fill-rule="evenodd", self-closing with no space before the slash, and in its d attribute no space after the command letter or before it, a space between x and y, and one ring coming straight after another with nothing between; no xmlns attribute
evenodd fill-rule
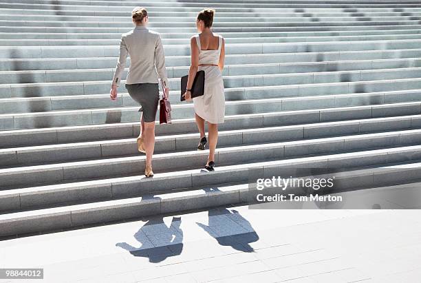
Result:
<svg viewBox="0 0 421 283"><path fill-rule="evenodd" d="M126 84L126 90L129 92L133 101L140 104L139 111L143 112L144 122L153 122L158 111L160 102L160 89L158 83L133 83Z"/></svg>

